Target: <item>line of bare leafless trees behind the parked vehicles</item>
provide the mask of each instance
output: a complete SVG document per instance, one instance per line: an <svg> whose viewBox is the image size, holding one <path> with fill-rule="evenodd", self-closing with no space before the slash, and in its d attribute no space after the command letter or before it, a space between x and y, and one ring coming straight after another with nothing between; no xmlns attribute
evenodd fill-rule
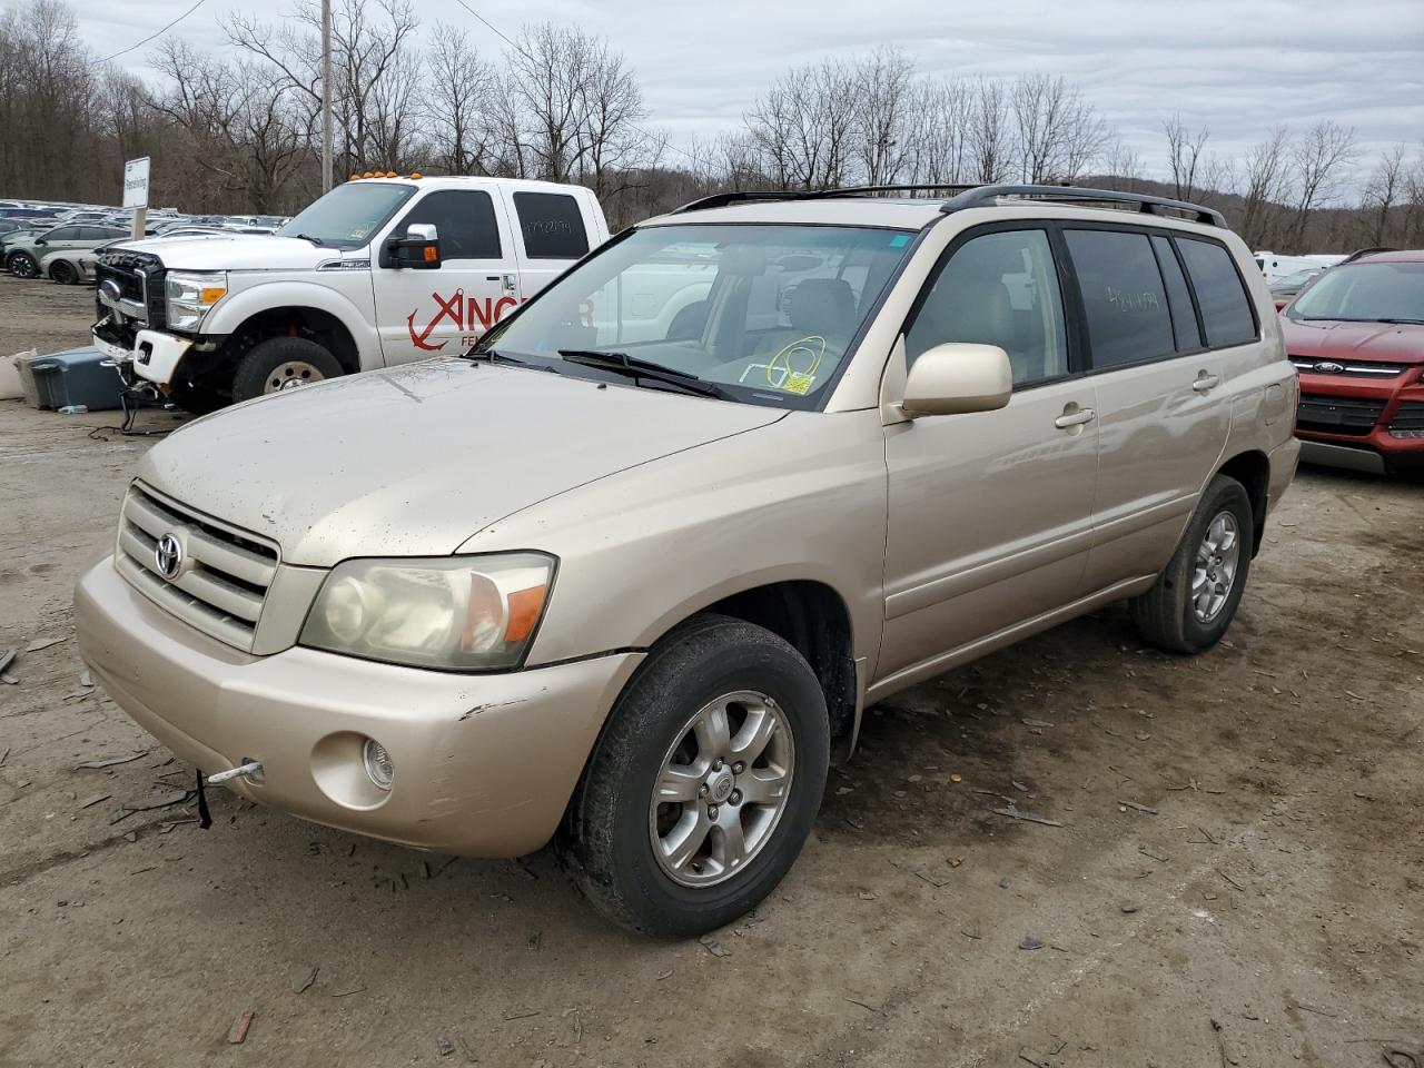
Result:
<svg viewBox="0 0 1424 1068"><path fill-rule="evenodd" d="M189 212L290 214L320 192L320 7L268 24L221 20L228 47L179 36L144 81L100 61L64 0L0 17L0 195L112 201L124 159L152 158L151 201ZM1237 155L1179 114L1149 179L1082 93L1058 75L927 77L893 47L787 70L738 128L674 145L649 125L625 57L541 23L497 51L468 27L426 33L410 0L333 4L337 177L423 171L570 181L621 226L736 188L1079 181L1219 208L1252 248L1424 245L1424 157L1366 158L1329 120L1263 131ZM1366 175L1360 182L1358 175Z"/></svg>

